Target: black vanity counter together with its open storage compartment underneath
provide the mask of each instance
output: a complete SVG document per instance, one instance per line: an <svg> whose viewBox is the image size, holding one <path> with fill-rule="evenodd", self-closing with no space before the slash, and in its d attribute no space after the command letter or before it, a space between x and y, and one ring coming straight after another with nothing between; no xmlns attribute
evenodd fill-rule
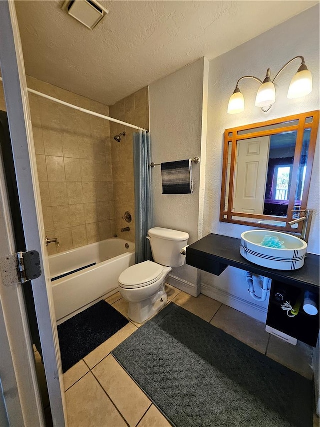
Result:
<svg viewBox="0 0 320 427"><path fill-rule="evenodd" d="M319 260L319 255L307 253L303 267L298 270L282 271L260 267L240 255L240 239L220 234L209 234L186 249L188 265L216 276L230 265L272 279L266 324L313 347L319 333L319 313L315 316L306 314L302 304L299 314L289 318L282 310L281 303L276 300L275 294L277 289L284 288L285 296L293 305L298 294L309 290L316 294L319 301Z"/></svg>

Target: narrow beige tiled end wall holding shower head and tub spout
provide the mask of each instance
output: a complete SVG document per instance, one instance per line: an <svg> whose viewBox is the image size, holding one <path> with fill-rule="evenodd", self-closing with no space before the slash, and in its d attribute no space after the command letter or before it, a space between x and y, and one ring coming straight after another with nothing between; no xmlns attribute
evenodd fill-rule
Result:
<svg viewBox="0 0 320 427"><path fill-rule="evenodd" d="M118 101L110 106L110 116L127 123L132 123L144 129L149 129L149 94L148 88L142 88L138 92ZM114 135L126 132L121 137L121 142L113 139ZM134 241L134 172L133 172L133 144L132 135L135 129L110 122L111 153L113 170L113 187L116 195L115 230L119 237ZM132 215L129 224L122 219L125 211ZM121 228L130 227L129 232L121 233Z"/></svg>

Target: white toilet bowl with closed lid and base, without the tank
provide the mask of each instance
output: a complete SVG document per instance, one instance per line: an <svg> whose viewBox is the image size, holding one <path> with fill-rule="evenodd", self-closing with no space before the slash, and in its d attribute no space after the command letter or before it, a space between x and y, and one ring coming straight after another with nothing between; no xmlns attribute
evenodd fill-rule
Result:
<svg viewBox="0 0 320 427"><path fill-rule="evenodd" d="M135 264L118 279L119 291L129 302L129 319L143 323L156 314L167 301L165 279L171 267L152 261Z"/></svg>

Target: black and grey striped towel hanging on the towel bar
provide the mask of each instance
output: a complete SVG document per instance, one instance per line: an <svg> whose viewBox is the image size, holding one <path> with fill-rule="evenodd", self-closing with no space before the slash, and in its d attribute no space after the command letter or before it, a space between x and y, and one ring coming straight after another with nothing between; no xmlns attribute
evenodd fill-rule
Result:
<svg viewBox="0 0 320 427"><path fill-rule="evenodd" d="M192 160L161 163L162 194L193 193Z"/></svg>

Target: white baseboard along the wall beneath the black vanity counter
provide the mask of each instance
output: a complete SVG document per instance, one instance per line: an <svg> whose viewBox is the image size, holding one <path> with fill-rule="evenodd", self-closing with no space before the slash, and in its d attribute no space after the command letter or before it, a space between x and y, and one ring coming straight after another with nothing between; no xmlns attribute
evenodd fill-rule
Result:
<svg viewBox="0 0 320 427"><path fill-rule="evenodd" d="M228 305L235 310L241 311L242 313L259 320L260 322L265 323L266 321L267 308L265 307L258 306L253 302L247 301L205 283L201 283L201 293L219 302L222 302L223 304Z"/></svg>

